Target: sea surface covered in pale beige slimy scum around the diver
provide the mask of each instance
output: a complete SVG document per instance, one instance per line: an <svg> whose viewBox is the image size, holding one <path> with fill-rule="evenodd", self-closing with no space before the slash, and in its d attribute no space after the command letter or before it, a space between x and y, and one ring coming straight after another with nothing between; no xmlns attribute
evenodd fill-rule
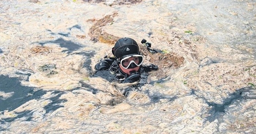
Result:
<svg viewBox="0 0 256 134"><path fill-rule="evenodd" d="M255 5L1 1L0 131L255 133ZM166 79L149 77L128 96L120 90L131 84L91 77L113 44L95 42L89 30L113 13L111 23L97 25L101 34L146 39L184 63L159 68Z"/></svg>

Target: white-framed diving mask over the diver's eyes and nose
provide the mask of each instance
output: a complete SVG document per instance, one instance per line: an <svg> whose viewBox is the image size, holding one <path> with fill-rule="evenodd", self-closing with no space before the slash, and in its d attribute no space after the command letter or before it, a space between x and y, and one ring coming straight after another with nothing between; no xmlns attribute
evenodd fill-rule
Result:
<svg viewBox="0 0 256 134"><path fill-rule="evenodd" d="M132 63L134 63L136 66L140 66L142 62L143 62L142 55L132 55L132 56L127 56L123 58L120 63L123 68L127 69Z"/></svg>

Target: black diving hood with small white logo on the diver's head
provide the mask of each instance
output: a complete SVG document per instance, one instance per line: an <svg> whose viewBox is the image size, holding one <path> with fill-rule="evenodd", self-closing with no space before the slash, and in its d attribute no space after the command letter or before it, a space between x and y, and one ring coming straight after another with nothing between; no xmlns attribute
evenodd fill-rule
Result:
<svg viewBox="0 0 256 134"><path fill-rule="evenodd" d="M126 37L117 40L112 48L112 53L117 59L124 55L140 54L137 42L132 38Z"/></svg>

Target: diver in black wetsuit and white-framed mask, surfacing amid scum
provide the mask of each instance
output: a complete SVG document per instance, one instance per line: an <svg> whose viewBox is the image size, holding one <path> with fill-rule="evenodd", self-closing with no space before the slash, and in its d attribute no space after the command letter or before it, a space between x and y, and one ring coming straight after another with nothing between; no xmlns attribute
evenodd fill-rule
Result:
<svg viewBox="0 0 256 134"><path fill-rule="evenodd" d="M151 43L146 42L148 51L157 52L151 47ZM120 83L133 83L139 81L137 87L141 87L147 82L148 72L158 70L154 64L143 66L143 55L139 51L139 46L131 38L118 39L112 48L114 58L101 60L95 65L95 74L93 77L101 76L109 82L118 81Z"/></svg>

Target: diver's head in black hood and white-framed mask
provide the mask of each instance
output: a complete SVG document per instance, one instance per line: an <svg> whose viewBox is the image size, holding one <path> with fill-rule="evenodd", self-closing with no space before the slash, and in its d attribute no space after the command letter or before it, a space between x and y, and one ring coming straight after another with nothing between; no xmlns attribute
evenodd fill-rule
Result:
<svg viewBox="0 0 256 134"><path fill-rule="evenodd" d="M112 53L117 59L119 67L123 72L131 75L131 71L138 71L143 62L143 56L139 52L139 46L131 38L121 38L117 40L112 48Z"/></svg>

